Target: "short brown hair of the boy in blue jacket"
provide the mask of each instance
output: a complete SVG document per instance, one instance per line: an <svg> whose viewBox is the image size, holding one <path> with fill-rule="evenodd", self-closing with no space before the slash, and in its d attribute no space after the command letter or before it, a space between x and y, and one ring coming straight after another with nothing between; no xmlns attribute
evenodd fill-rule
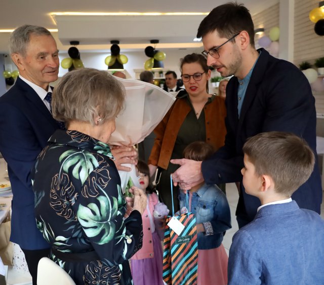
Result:
<svg viewBox="0 0 324 285"><path fill-rule="evenodd" d="M289 197L308 180L314 168L313 151L293 133L259 133L247 140L243 152L254 164L256 175L271 176L275 191Z"/></svg>

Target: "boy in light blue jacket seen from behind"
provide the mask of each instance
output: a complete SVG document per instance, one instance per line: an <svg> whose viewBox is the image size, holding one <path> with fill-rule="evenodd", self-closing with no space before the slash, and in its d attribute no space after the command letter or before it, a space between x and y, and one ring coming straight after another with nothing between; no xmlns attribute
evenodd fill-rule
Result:
<svg viewBox="0 0 324 285"><path fill-rule="evenodd" d="M233 236L228 284L324 284L324 221L291 199L314 168L312 150L294 134L267 132L243 151L243 185L261 206Z"/></svg>

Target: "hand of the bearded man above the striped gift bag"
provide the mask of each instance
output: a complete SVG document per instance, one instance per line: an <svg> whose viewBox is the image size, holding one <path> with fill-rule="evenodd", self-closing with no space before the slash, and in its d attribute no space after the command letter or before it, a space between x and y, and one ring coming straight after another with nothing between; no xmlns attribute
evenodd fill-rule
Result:
<svg viewBox="0 0 324 285"><path fill-rule="evenodd" d="M203 173L201 173L201 161L190 159L171 159L173 164L181 165L174 173L172 180L175 186L179 184L183 190L190 190L193 186L204 182Z"/></svg>

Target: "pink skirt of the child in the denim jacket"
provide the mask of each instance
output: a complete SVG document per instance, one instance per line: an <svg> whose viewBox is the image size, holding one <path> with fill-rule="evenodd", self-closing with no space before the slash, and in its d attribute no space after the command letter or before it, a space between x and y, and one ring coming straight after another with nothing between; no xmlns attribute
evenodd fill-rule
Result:
<svg viewBox="0 0 324 285"><path fill-rule="evenodd" d="M198 250L197 284L227 284L227 263L228 257L223 244L211 250Z"/></svg>

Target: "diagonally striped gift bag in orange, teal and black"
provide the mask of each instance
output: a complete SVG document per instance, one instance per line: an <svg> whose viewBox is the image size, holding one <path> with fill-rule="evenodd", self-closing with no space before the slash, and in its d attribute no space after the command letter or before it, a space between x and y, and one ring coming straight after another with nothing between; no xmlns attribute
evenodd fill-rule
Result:
<svg viewBox="0 0 324 285"><path fill-rule="evenodd" d="M174 216L184 229L177 235L167 219L163 241L163 280L168 285L196 285L198 270L198 244L196 219L192 213Z"/></svg>

